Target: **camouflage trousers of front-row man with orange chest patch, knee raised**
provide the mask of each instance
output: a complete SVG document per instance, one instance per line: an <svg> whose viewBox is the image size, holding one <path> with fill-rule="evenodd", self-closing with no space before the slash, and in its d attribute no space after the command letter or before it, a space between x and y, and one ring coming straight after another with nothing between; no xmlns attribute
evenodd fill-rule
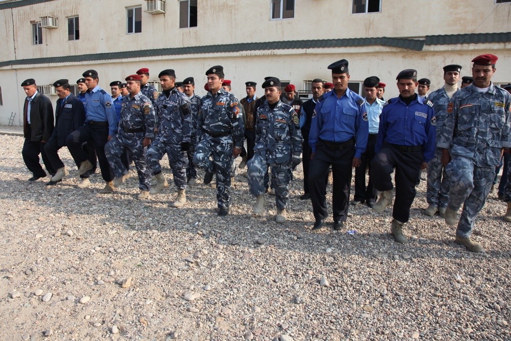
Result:
<svg viewBox="0 0 511 341"><path fill-rule="evenodd" d="M203 137L195 150L193 163L206 172L216 172L218 208L229 208L230 176L233 165L232 141L226 143L218 138Z"/></svg>

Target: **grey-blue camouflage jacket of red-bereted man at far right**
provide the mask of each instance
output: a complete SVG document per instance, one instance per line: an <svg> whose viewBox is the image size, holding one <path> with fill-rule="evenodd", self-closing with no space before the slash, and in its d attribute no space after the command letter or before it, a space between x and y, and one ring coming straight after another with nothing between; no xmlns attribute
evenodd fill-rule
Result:
<svg viewBox="0 0 511 341"><path fill-rule="evenodd" d="M490 84L486 93L470 85L456 92L446 110L436 146L467 157L478 167L496 167L501 148L511 147L506 90Z"/></svg>

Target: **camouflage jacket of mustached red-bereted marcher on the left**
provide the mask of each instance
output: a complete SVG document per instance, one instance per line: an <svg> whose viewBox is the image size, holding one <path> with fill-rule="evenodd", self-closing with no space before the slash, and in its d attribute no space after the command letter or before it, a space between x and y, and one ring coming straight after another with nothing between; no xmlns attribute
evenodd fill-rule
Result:
<svg viewBox="0 0 511 341"><path fill-rule="evenodd" d="M154 108L149 98L141 92L123 97L119 132L131 134L129 129L144 129L144 138L154 140Z"/></svg>

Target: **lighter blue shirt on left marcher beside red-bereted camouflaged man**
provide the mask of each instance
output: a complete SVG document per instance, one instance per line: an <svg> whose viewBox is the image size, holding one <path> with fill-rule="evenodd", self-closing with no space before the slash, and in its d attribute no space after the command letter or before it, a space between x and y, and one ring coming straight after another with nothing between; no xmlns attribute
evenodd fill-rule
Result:
<svg viewBox="0 0 511 341"><path fill-rule="evenodd" d="M87 112L85 122L108 122L108 135L117 132L117 115L112 104L112 96L97 85L92 90L87 90L85 95Z"/></svg>

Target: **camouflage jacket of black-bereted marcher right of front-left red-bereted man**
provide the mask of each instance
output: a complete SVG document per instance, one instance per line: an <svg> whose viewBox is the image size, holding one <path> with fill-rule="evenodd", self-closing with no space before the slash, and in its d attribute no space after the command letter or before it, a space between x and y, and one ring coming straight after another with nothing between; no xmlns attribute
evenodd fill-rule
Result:
<svg viewBox="0 0 511 341"><path fill-rule="evenodd" d="M156 101L158 139L179 145L190 142L192 110L190 99L175 87L169 95L162 92Z"/></svg>

